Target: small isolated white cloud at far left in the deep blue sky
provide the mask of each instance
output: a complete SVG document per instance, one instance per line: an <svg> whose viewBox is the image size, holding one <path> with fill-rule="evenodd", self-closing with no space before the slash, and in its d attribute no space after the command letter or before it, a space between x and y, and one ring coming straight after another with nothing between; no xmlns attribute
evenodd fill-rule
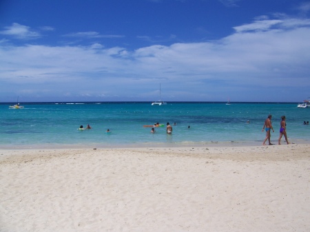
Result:
<svg viewBox="0 0 310 232"><path fill-rule="evenodd" d="M30 27L19 23L13 23L12 25L6 27L6 30L0 31L0 34L13 36L17 39L37 39L41 37L39 32L34 32L33 30L30 30Z"/></svg>

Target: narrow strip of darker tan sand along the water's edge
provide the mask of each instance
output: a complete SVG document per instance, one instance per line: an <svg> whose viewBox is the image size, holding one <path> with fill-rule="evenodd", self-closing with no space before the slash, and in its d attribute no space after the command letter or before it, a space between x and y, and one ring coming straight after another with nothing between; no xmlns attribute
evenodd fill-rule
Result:
<svg viewBox="0 0 310 232"><path fill-rule="evenodd" d="M79 154L107 154L109 152L130 156L130 154L156 153L162 156L188 156L188 157L211 157L223 160L239 158L240 160L285 160L289 158L309 158L310 144L289 144L289 145L242 145L242 146L185 146L185 147L39 147L26 149L0 149L0 165L5 160L17 160L31 158L65 157ZM127 154L128 153L128 154ZM270 153L270 154L269 154ZM309 168L310 170L310 168Z"/></svg>

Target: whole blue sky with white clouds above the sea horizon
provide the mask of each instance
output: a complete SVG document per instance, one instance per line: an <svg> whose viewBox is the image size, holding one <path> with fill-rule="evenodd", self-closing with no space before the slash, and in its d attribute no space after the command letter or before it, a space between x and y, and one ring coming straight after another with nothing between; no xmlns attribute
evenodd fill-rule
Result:
<svg viewBox="0 0 310 232"><path fill-rule="evenodd" d="M1 0L0 102L301 102L309 17L297 0Z"/></svg>

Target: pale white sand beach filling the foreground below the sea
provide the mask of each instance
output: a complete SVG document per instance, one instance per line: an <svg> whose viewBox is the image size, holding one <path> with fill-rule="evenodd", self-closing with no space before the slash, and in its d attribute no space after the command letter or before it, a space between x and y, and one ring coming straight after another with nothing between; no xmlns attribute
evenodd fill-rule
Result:
<svg viewBox="0 0 310 232"><path fill-rule="evenodd" d="M310 145L1 149L0 231L310 231Z"/></svg>

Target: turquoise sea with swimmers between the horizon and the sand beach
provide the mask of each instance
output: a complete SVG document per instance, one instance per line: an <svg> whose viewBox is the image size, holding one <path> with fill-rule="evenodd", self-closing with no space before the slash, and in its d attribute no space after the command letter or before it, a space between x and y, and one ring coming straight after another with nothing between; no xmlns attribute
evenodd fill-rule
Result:
<svg viewBox="0 0 310 232"><path fill-rule="evenodd" d="M268 114L273 116L273 143L282 115L291 142L310 141L310 125L302 124L310 120L310 109L298 109L297 103L23 103L24 109L9 105L0 105L1 148L260 145ZM156 127L155 134L143 127L157 122L169 122L173 134L167 135L165 127ZM78 129L87 124L92 129ZM107 129L112 132L106 134Z"/></svg>

